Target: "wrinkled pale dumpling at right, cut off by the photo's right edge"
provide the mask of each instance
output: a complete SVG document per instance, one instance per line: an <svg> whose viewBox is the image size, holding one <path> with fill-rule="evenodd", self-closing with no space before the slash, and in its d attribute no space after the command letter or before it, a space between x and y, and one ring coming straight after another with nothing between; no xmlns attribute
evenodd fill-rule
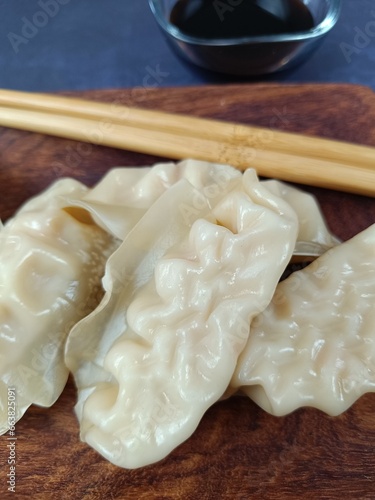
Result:
<svg viewBox="0 0 375 500"><path fill-rule="evenodd" d="M375 392L375 225L282 281L231 385L264 410L329 415Z"/></svg>

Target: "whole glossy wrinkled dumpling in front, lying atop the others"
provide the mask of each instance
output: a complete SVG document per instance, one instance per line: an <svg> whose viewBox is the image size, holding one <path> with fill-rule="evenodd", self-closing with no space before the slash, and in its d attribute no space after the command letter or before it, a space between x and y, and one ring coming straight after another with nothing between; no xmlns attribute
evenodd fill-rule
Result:
<svg viewBox="0 0 375 500"><path fill-rule="evenodd" d="M109 259L102 303L69 334L81 439L118 466L157 462L194 432L292 255L290 206L254 170L222 179L181 180L158 198Z"/></svg>

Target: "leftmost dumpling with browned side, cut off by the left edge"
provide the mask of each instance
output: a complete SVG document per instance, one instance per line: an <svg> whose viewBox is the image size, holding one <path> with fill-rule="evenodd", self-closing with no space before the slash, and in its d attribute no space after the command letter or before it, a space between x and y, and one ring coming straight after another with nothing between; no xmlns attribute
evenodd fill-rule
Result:
<svg viewBox="0 0 375 500"><path fill-rule="evenodd" d="M69 329L100 301L113 238L89 217L63 209L64 197L86 192L77 181L61 180L1 227L1 434L9 428L9 389L16 393L16 421L31 404L51 406L58 398L68 378Z"/></svg>

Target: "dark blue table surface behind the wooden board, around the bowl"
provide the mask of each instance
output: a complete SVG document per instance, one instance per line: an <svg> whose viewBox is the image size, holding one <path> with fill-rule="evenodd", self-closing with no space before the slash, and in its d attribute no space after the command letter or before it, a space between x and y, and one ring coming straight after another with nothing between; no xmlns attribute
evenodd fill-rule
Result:
<svg viewBox="0 0 375 500"><path fill-rule="evenodd" d="M0 0L0 41L3 88L239 81L181 61L161 36L147 0ZM245 81L347 82L375 89L375 0L343 0L337 26L299 68Z"/></svg>

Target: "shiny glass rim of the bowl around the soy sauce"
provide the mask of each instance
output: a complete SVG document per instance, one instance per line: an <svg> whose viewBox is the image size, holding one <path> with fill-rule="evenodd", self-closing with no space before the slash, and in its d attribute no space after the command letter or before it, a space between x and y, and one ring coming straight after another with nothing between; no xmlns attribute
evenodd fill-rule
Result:
<svg viewBox="0 0 375 500"><path fill-rule="evenodd" d="M337 23L340 16L342 0L331 0L326 17L311 30L290 34L283 33L281 35L259 35L238 38L203 38L186 35L165 18L161 11L160 0L148 0L148 3L159 26L176 40L191 45L228 46L249 43L309 41L321 37L328 33Z"/></svg>

